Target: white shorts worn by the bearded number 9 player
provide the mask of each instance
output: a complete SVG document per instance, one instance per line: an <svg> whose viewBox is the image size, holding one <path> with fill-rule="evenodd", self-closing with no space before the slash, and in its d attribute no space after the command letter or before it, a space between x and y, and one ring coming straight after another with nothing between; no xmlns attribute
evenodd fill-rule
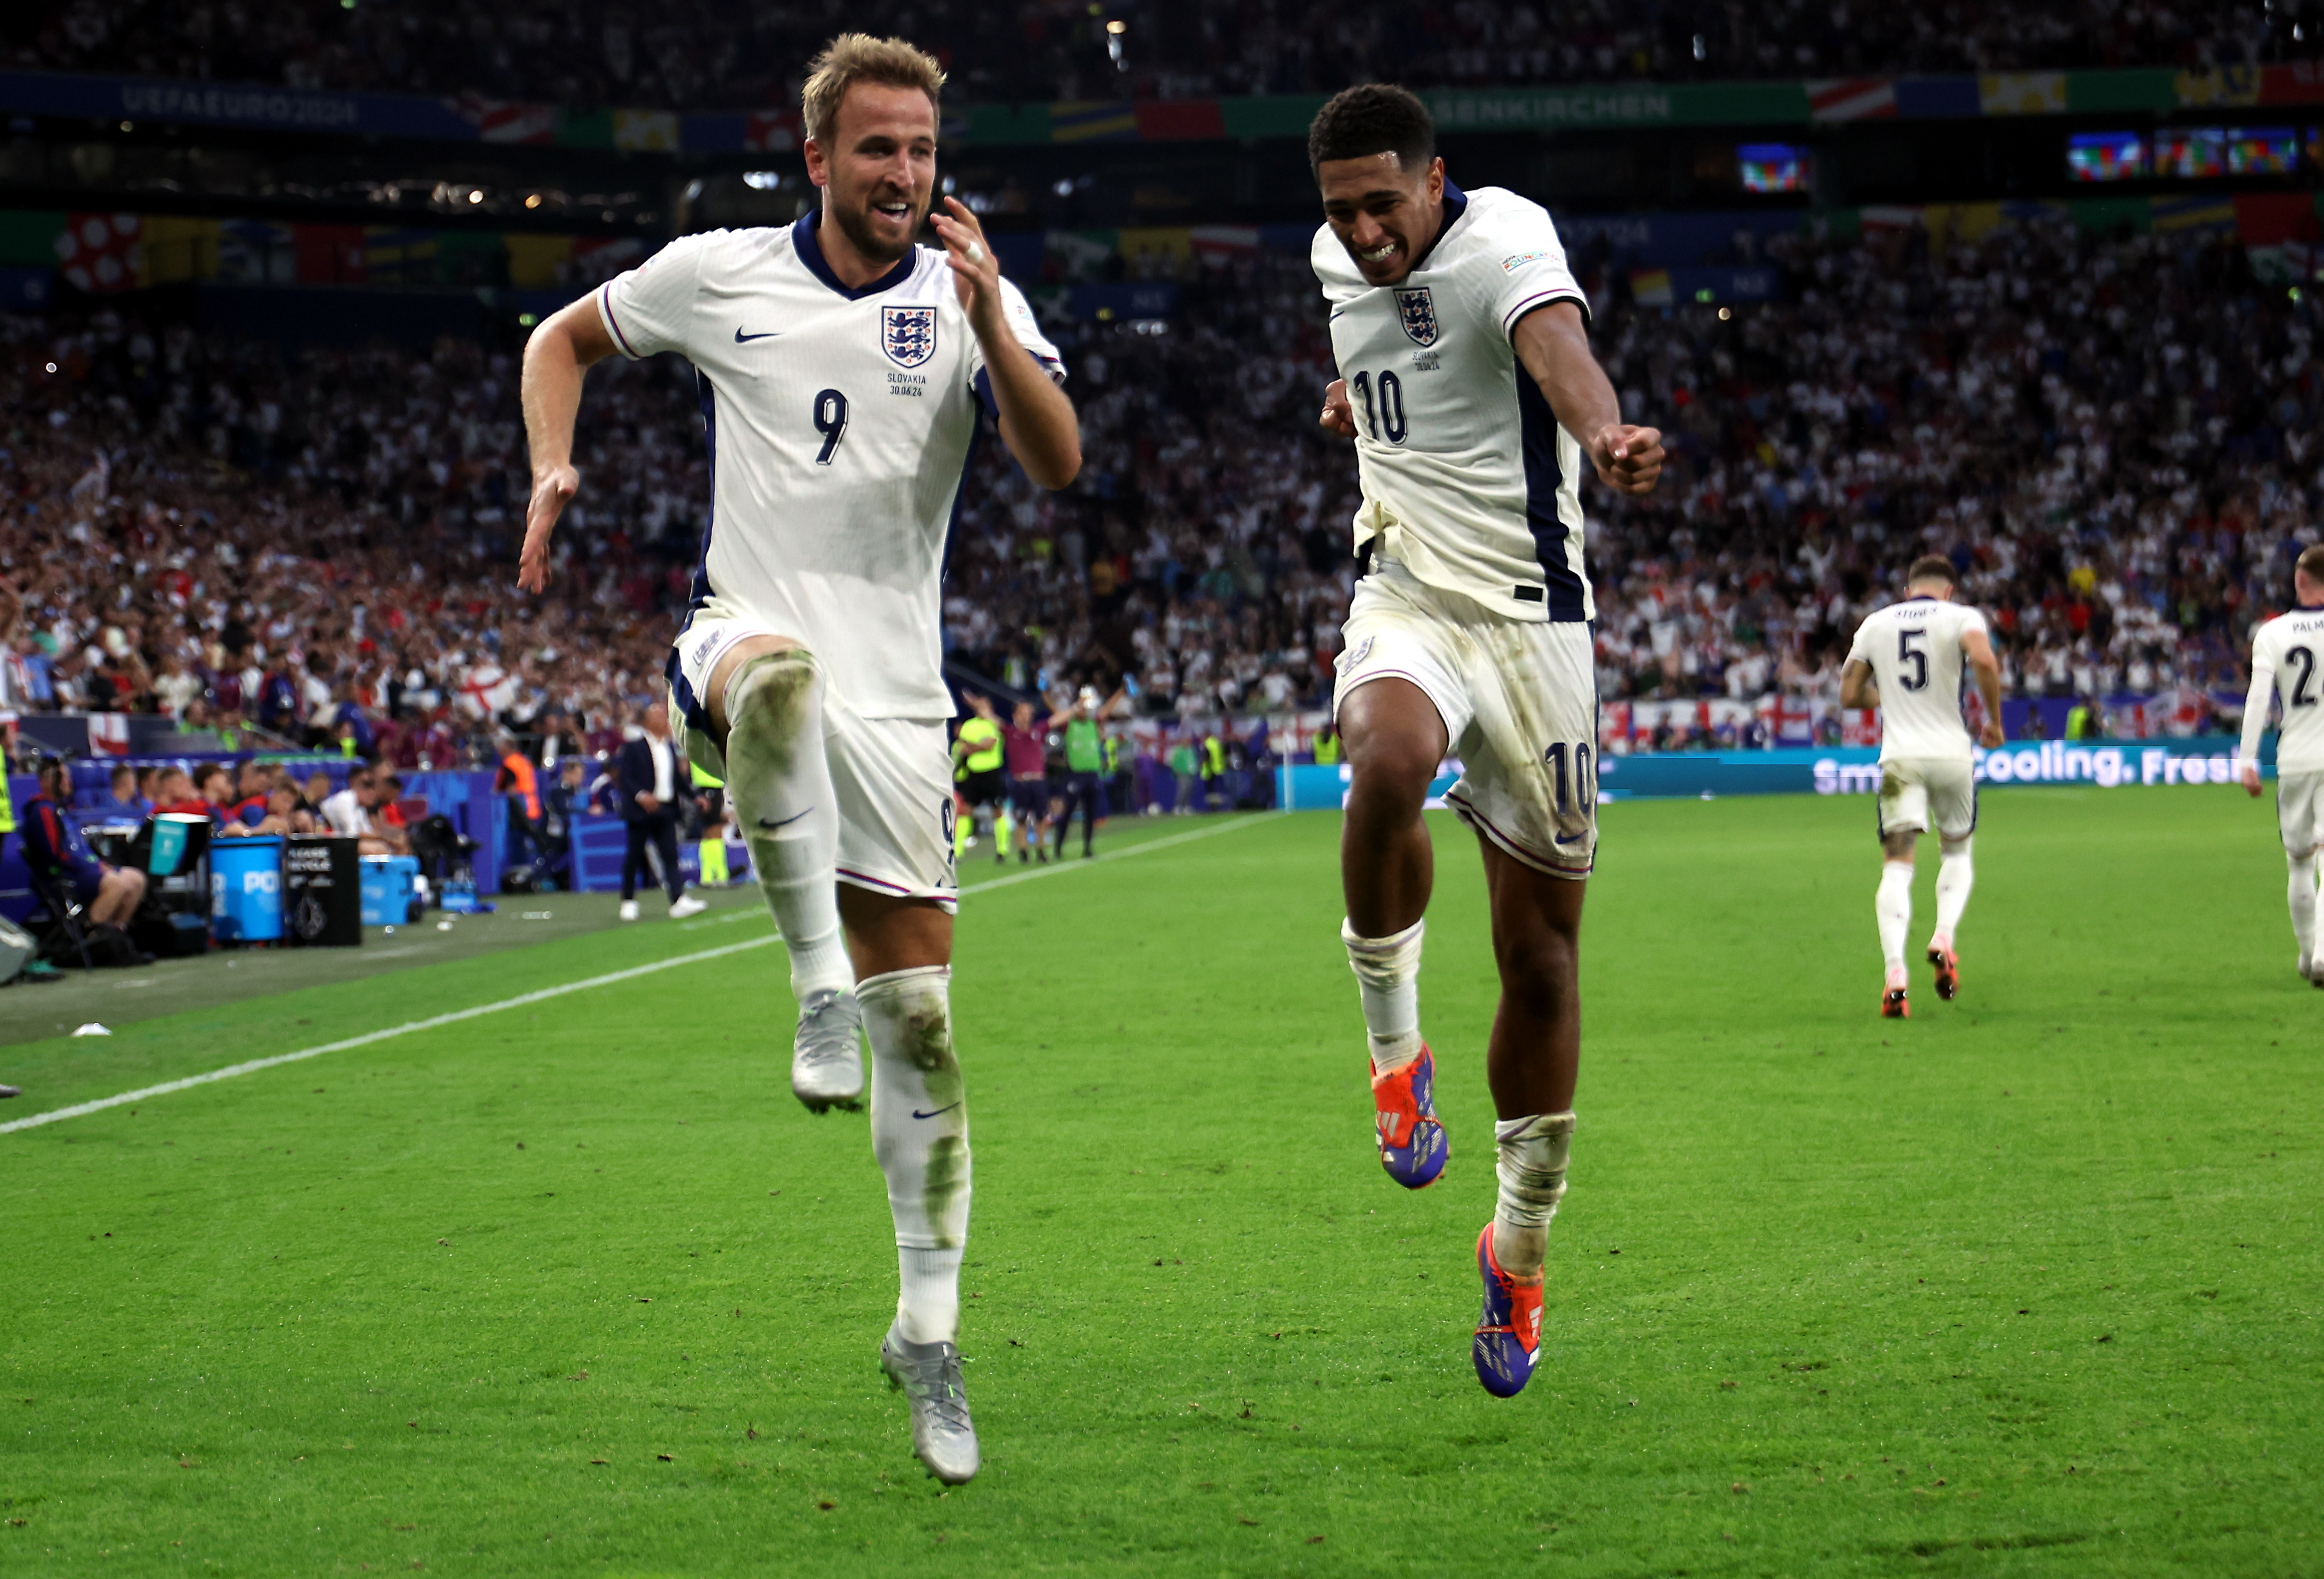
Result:
<svg viewBox="0 0 2324 1579"><path fill-rule="evenodd" d="M700 706L718 659L744 636L783 636L758 615L711 597L693 611L669 657L669 722L686 755L725 778L725 752ZM941 718L862 718L823 683L823 750L839 799L839 880L876 894L957 908L953 757Z"/></svg>

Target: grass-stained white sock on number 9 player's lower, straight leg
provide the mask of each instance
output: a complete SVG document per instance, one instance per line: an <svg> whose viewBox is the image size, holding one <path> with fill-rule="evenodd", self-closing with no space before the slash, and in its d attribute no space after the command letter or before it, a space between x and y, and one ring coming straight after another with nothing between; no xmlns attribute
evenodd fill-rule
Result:
<svg viewBox="0 0 2324 1579"><path fill-rule="evenodd" d="M855 985L871 1043L871 1154L888 1175L911 1342L953 1342L969 1242L969 1108L953 1057L953 971L888 971Z"/></svg>

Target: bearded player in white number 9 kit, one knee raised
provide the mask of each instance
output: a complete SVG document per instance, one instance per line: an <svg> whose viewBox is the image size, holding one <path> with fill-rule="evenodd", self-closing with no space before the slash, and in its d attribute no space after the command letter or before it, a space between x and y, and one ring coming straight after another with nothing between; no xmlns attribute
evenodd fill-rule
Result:
<svg viewBox="0 0 2324 1579"><path fill-rule="evenodd" d="M911 1396L913 1449L960 1484L978 1451L953 1342L969 1122L948 1005L939 574L981 397L1046 488L1074 481L1081 437L1057 351L969 209L934 216L944 251L913 244L941 84L902 39L834 39L804 91L816 214L681 237L535 332L521 583L541 587L579 485L581 372L616 351L686 355L713 481L669 711L725 780L790 950L792 1091L818 1112L858 1105L858 1033L871 1043L871 1147L902 1270L881 1363Z"/></svg>

